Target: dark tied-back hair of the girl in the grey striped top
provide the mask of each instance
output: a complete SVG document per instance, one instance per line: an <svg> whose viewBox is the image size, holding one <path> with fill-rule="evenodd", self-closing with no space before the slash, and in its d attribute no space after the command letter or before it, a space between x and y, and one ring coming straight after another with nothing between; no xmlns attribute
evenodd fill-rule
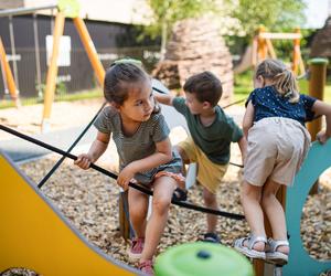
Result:
<svg viewBox="0 0 331 276"><path fill-rule="evenodd" d="M114 63L106 72L104 96L108 103L122 105L132 84L149 79L147 73L132 63Z"/></svg>

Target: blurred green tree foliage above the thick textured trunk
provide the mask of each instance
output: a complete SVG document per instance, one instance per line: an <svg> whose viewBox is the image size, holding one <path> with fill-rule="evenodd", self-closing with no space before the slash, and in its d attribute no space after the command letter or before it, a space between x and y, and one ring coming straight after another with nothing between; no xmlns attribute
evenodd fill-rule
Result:
<svg viewBox="0 0 331 276"><path fill-rule="evenodd" d="M248 43L259 25L270 31L288 31L305 20L305 0L147 0L152 23L146 31L161 34L161 59L175 22L210 13L218 20L223 34L244 36ZM232 38L229 38L232 40Z"/></svg>

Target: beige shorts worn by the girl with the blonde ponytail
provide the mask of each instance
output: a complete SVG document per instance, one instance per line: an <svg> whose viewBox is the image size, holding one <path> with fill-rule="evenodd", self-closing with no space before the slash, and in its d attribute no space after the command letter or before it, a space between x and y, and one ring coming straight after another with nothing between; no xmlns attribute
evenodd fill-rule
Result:
<svg viewBox="0 0 331 276"><path fill-rule="evenodd" d="M292 185L293 179L308 153L310 135L297 120L264 118L248 131L244 180L264 185L267 179Z"/></svg>

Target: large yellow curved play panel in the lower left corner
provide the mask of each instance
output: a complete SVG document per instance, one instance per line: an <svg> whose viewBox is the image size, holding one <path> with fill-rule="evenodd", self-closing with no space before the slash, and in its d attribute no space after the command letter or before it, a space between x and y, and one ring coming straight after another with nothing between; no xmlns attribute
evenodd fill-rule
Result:
<svg viewBox="0 0 331 276"><path fill-rule="evenodd" d="M0 274L10 267L43 276L139 274L89 244L0 151Z"/></svg>

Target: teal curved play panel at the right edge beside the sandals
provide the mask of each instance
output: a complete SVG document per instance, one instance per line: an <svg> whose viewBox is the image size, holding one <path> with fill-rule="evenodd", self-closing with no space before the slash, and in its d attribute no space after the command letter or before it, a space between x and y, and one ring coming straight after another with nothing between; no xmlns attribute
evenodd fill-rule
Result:
<svg viewBox="0 0 331 276"><path fill-rule="evenodd" d="M287 189L286 222L290 235L289 262L282 268L284 276L311 276L331 269L331 261L318 261L309 256L303 247L300 224L302 209L310 188L321 173L331 167L331 139L325 145L313 142L308 157L296 176L292 188ZM318 242L318 241L316 241Z"/></svg>

